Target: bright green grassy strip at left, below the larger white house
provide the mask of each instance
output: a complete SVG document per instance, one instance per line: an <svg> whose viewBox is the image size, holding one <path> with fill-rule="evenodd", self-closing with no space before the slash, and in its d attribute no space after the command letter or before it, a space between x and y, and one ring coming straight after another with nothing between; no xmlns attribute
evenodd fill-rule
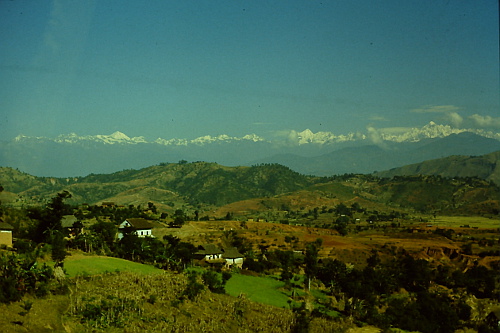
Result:
<svg viewBox="0 0 500 333"><path fill-rule="evenodd" d="M112 257L85 257L81 259L66 260L64 269L69 277L77 275L95 275L106 272L134 272L139 274L158 274L163 270L150 265L112 258Z"/></svg>

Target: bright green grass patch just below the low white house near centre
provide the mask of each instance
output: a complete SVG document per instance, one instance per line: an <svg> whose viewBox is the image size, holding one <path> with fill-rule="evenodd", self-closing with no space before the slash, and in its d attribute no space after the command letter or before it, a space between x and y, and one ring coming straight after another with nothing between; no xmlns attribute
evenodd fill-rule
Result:
<svg viewBox="0 0 500 333"><path fill-rule="evenodd" d="M279 290L284 285L270 277L233 274L226 283L226 292L235 297L243 293L254 302L286 308L289 298Z"/></svg>

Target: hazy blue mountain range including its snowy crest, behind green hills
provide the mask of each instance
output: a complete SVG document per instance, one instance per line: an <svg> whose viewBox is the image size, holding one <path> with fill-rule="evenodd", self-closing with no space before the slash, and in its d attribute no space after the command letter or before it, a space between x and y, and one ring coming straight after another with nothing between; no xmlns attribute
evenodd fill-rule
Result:
<svg viewBox="0 0 500 333"><path fill-rule="evenodd" d="M0 142L0 166L52 177L85 176L137 169L163 162L207 161L227 166L279 163L302 174L330 176L372 173L451 155L483 155L500 150L500 133L456 129L434 122L398 131L335 135L289 131L277 139L241 137L148 141L124 133L56 138L19 135Z"/></svg>

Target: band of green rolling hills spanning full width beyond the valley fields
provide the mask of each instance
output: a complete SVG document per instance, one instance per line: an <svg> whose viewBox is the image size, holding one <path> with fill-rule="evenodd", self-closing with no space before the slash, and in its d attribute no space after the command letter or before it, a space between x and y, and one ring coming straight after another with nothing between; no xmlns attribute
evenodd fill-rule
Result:
<svg viewBox="0 0 500 333"><path fill-rule="evenodd" d="M146 207L151 202L161 211L182 208L212 215L229 211L303 211L334 207L341 202L348 205L356 202L380 211L497 215L500 188L487 180L490 173L477 168L484 165L484 170L491 170L496 166L495 158L497 154L485 155L484 161L479 157L469 158L471 161L466 164L478 173L466 173L466 168L458 166L462 173L453 174L455 179L446 178L445 174L414 175L422 167L411 166L405 175L380 174L385 178L360 174L321 178L305 176L278 164L227 167L206 162L161 164L81 178L35 177L0 168L0 184L5 189L0 200L14 206L44 204L66 190L72 194L68 200L72 204L113 201L117 205ZM466 157L455 159L467 161ZM446 161L443 160L441 168L445 170L448 163L448 168L453 169L454 164ZM486 179L472 178L475 176Z"/></svg>

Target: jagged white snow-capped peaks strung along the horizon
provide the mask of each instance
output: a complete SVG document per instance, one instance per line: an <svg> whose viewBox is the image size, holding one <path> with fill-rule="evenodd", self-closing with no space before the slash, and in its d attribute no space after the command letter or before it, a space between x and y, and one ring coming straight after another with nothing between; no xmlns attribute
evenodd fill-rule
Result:
<svg viewBox="0 0 500 333"><path fill-rule="evenodd" d="M281 136L277 139L268 140L256 134L247 134L242 137L234 137L226 134L218 136L205 135L196 139L163 139L157 138L154 141L147 141L143 136L129 137L126 134L116 131L110 135L84 135L79 136L76 133L61 134L56 138L47 137L31 137L18 135L14 138L14 142L56 142L56 143L81 143L81 142L96 142L103 144L140 144L140 143L155 143L164 146L187 146L187 145L205 145L216 142L283 142L287 144L335 144L342 142L374 140L374 136L378 140L390 142L417 142L422 139L444 138L451 134L459 134L464 132L474 133L486 138L500 140L500 133L484 131L478 129L457 129L449 125L438 125L434 122L421 128L404 128L404 129L368 129L368 134L349 133L346 135L335 135L332 132L312 132L306 129L302 132L290 131L288 135Z"/></svg>

